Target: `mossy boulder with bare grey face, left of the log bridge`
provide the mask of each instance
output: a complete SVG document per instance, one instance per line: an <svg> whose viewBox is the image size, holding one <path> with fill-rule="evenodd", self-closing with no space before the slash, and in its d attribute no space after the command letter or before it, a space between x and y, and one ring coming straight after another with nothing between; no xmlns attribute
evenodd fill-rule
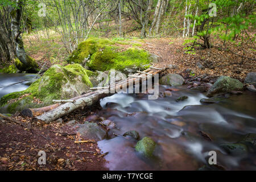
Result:
<svg viewBox="0 0 256 182"><path fill-rule="evenodd" d="M9 113L26 108L43 107L52 104L52 100L68 99L80 96L93 85L80 64L53 65L44 75L26 90L3 96L0 106L7 105Z"/></svg>

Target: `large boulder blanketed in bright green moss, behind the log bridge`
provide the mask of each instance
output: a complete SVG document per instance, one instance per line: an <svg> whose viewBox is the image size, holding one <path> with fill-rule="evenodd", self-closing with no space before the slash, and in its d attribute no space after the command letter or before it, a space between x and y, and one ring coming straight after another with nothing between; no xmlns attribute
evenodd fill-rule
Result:
<svg viewBox="0 0 256 182"><path fill-rule="evenodd" d="M121 43L109 39L89 38L72 52L69 63L86 65L94 71L116 69L126 73L150 66L150 53L137 47L126 49L118 44Z"/></svg>

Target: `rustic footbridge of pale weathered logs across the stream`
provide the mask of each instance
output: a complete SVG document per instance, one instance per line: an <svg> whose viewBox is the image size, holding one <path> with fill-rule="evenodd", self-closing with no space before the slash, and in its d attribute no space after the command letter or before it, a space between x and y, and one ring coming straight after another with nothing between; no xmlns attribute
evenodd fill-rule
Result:
<svg viewBox="0 0 256 182"><path fill-rule="evenodd" d="M156 74L164 72L166 69L154 68L150 67L145 71L137 71L134 75L129 76L126 80L122 80L119 82L115 82L112 85L106 86L104 88L92 88L89 93L83 94L82 96L74 97L69 100L53 100L56 104L41 107L37 109L24 109L22 111L22 115L28 116L31 118L39 119L40 121L44 121L46 123L50 123L63 117L63 115L69 114L72 111L78 109L84 109L84 107L88 107L99 101L101 98L109 96L110 89L121 90L123 85L129 85L131 82L133 84L138 83L141 85L143 78L154 78Z"/></svg>

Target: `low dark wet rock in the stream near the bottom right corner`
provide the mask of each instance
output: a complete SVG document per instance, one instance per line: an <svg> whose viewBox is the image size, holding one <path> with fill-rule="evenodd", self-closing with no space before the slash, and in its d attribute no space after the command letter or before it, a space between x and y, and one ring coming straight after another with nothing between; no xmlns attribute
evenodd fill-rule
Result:
<svg viewBox="0 0 256 182"><path fill-rule="evenodd" d="M221 147L231 155L242 155L247 152L247 147L243 143L221 144Z"/></svg>

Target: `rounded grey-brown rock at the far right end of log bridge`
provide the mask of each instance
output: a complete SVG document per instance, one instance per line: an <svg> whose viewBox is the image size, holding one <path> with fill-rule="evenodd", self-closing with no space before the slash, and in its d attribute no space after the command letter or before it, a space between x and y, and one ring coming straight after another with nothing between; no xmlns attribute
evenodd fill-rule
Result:
<svg viewBox="0 0 256 182"><path fill-rule="evenodd" d="M177 74L168 74L160 78L159 83L162 85L170 85L170 86L181 86L185 82L184 78Z"/></svg>

